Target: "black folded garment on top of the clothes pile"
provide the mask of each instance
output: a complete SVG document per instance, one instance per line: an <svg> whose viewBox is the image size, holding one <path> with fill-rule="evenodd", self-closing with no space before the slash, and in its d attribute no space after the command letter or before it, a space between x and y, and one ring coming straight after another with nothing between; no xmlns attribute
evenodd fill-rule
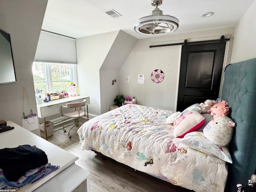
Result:
<svg viewBox="0 0 256 192"><path fill-rule="evenodd" d="M48 163L45 152L30 145L0 149L0 157L0 168L2 168L4 176L14 182L28 170Z"/></svg>

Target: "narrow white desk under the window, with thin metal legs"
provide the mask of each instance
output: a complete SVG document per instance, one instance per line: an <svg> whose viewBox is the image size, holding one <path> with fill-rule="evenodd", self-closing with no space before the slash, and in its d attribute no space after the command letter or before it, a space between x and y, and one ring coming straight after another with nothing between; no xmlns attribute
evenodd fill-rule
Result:
<svg viewBox="0 0 256 192"><path fill-rule="evenodd" d="M44 125L45 125L44 132L45 132L46 140L47 140L47 130L46 130L45 117L60 113L60 107L62 105L66 105L65 103L67 103L67 102L72 102L72 101L79 102L84 99L86 99L87 120L89 120L89 115L88 115L89 114L88 113L88 104L90 104L89 96L78 95L78 96L74 96L74 97L66 97L66 98L52 100L49 102L43 102L43 103L36 104L38 117L44 118Z"/></svg>

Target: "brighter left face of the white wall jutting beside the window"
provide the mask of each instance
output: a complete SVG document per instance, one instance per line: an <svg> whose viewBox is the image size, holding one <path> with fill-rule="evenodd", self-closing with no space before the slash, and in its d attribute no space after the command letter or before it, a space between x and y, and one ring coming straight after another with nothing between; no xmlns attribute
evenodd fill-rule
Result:
<svg viewBox="0 0 256 192"><path fill-rule="evenodd" d="M81 95L90 96L89 113L100 115L100 67L118 31L76 39L78 87Z"/></svg>

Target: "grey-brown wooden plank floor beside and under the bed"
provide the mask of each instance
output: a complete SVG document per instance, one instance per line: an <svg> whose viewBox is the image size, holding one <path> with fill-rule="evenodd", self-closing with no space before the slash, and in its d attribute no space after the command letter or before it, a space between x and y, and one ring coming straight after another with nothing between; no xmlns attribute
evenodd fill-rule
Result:
<svg viewBox="0 0 256 192"><path fill-rule="evenodd" d="M72 122L64 124L70 123ZM55 130L64 124L55 125ZM63 130L54 132L48 141L79 157L76 164L91 173L91 192L192 192L113 160L102 160L100 155L92 151L82 151L77 134L78 127L74 127L70 132L72 137L68 137L71 127L66 128L66 133Z"/></svg>

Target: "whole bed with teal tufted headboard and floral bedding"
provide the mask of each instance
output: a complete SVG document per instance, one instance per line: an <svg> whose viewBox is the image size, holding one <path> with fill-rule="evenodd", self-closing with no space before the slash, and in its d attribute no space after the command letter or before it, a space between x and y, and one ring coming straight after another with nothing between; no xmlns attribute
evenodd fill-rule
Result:
<svg viewBox="0 0 256 192"><path fill-rule="evenodd" d="M198 142L205 139L198 130L176 138L174 125L166 123L175 112L126 104L78 129L82 150L94 150L196 192L232 192L236 184L247 183L256 168L255 82L256 58L225 69L221 99L228 102L236 123L228 146L214 146L207 139Z"/></svg>

